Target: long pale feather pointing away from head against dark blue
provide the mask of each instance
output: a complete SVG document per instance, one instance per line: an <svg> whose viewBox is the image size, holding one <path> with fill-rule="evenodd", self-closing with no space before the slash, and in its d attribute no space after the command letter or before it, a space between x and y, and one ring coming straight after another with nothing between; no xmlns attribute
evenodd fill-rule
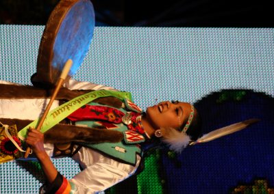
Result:
<svg viewBox="0 0 274 194"><path fill-rule="evenodd" d="M250 119L250 120L237 122L235 124L231 124L229 126L225 126L225 127L213 130L212 132L207 133L206 135L203 135L201 138L197 139L197 141L193 141L192 143L190 143L190 145L195 145L196 143L205 143L205 142L212 141L214 139L223 137L225 135L235 133L236 131L247 128L247 126L254 124L258 121L260 121L260 120Z"/></svg>

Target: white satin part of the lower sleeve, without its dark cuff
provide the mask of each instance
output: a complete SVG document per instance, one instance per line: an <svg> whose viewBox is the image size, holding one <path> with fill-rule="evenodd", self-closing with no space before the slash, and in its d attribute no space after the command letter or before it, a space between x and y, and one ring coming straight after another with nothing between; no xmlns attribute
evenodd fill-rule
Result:
<svg viewBox="0 0 274 194"><path fill-rule="evenodd" d="M69 182L74 185L76 193L97 193L132 176L139 163L140 156L136 155L136 165L127 165L90 148L82 148L73 159L81 161L86 167Z"/></svg>

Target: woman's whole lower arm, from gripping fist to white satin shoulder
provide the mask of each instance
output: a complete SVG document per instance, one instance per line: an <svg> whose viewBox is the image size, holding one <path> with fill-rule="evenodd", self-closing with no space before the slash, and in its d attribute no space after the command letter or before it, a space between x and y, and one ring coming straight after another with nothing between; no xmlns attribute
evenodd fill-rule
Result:
<svg viewBox="0 0 274 194"><path fill-rule="evenodd" d="M136 166L132 166L115 161L90 148L82 148L79 151L81 154L76 154L76 158L73 159L85 163L87 167L73 179L66 180L57 171L45 152L43 146L44 135L42 133L34 129L29 130L26 142L36 154L47 178L47 184L42 186L42 191L45 193L69 193L70 191L75 193L95 193L104 191L110 186L132 176L140 163L140 156L138 155ZM90 161L94 163L90 163Z"/></svg>

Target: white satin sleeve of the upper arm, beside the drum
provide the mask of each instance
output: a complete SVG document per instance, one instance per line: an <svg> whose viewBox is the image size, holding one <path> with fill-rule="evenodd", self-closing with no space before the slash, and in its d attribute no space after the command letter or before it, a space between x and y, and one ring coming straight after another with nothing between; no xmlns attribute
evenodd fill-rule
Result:
<svg viewBox="0 0 274 194"><path fill-rule="evenodd" d="M64 86L68 87L69 89L94 89L94 90L109 89L113 91L118 91L117 89L114 89L113 87L108 87L105 85L84 82L84 81L76 81L74 79L70 79L69 82L65 83Z"/></svg>

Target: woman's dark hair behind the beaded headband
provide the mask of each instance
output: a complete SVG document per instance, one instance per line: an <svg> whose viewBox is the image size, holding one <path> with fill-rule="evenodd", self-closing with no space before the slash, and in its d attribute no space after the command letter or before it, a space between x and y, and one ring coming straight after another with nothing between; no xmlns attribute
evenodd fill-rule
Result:
<svg viewBox="0 0 274 194"><path fill-rule="evenodd" d="M184 125L182 128L184 128ZM186 134L189 135L190 139L193 141L197 140L201 136L201 117L197 109L195 109L193 120L188 130L186 130Z"/></svg>

